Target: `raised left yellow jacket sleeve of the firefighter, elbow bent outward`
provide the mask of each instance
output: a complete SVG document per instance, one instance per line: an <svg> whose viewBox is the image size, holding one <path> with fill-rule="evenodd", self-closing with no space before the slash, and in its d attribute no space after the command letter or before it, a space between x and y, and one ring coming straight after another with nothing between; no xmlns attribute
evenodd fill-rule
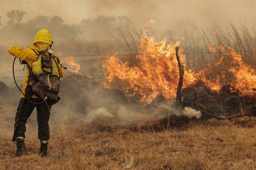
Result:
<svg viewBox="0 0 256 170"><path fill-rule="evenodd" d="M11 47L8 52L19 59L25 60L27 63L30 63L35 57L35 54L32 54L29 48L21 48L20 46Z"/></svg>

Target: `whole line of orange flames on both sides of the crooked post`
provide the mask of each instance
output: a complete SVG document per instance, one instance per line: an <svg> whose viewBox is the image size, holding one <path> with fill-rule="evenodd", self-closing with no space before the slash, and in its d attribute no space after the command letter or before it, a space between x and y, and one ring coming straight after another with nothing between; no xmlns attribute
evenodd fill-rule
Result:
<svg viewBox="0 0 256 170"><path fill-rule="evenodd" d="M119 89L127 96L138 96L140 101L152 102L157 96L165 99L175 97L179 77L179 68L175 56L175 48L179 42L166 39L156 41L147 35L149 30L143 29L140 40L140 51L136 55L137 63L130 66L129 61L122 62L111 56L103 63L107 81L105 88ZM180 48L180 60L184 66L183 88L191 86L201 79L211 90L219 91L223 85L231 84L240 95L255 95L256 70L242 61L241 54L227 46L219 47L220 51L230 53L215 53L217 50L211 44L208 50L216 54L218 61L208 64L204 70L196 73L186 67L186 56ZM230 89L231 91L234 88Z"/></svg>

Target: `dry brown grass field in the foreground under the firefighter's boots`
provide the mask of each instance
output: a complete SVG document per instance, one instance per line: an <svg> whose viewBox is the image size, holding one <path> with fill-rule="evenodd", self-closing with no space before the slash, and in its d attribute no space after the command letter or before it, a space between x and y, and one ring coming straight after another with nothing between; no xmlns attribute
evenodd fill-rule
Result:
<svg viewBox="0 0 256 170"><path fill-rule="evenodd" d="M49 156L38 156L36 114L26 132L29 154L15 158L15 107L1 108L1 170L253 170L256 118L169 119L120 127L112 120L72 122L52 111ZM62 114L62 115L59 115Z"/></svg>

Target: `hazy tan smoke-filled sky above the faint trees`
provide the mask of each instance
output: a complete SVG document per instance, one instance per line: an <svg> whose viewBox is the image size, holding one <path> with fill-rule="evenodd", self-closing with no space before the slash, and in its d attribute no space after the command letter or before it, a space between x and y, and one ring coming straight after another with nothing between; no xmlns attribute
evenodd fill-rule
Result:
<svg viewBox="0 0 256 170"><path fill-rule="evenodd" d="M193 25L205 28L213 19L220 23L245 21L253 25L256 0L0 0L3 25L6 12L25 11L22 22L36 15L59 15L64 23L79 23L82 19L100 15L125 15L136 27L156 19L159 30L189 29Z"/></svg>

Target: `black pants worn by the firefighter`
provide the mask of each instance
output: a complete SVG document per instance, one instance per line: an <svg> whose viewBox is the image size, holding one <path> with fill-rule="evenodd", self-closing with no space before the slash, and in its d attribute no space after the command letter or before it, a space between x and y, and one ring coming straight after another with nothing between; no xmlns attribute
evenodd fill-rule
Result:
<svg viewBox="0 0 256 170"><path fill-rule="evenodd" d="M39 103L43 99L30 99L32 102ZM25 98L21 98L19 106L17 108L17 113L15 116L15 125L14 125L14 135L12 141L15 142L17 136L23 136L25 138L26 132L26 121L31 115L32 111L35 109L37 111L37 121L38 121L38 139L40 140L49 140L49 117L51 105L47 102L41 104L33 104Z"/></svg>

